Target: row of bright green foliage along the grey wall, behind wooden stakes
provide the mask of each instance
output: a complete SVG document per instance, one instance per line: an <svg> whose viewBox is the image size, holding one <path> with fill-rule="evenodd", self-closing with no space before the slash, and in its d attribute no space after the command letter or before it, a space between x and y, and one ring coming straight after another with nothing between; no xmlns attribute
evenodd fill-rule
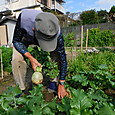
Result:
<svg viewBox="0 0 115 115"><path fill-rule="evenodd" d="M84 33L83 46L86 46L86 36ZM75 39L74 32L64 35L64 41L66 47L76 47L80 45L81 38ZM79 42L79 43L77 43ZM92 28L88 32L88 47L106 47L115 46L115 34L111 30L101 31L99 28Z"/></svg>

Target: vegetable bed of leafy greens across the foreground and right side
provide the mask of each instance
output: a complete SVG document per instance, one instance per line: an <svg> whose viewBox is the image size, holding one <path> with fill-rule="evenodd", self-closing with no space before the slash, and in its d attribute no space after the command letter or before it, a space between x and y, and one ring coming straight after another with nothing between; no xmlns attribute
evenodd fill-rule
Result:
<svg viewBox="0 0 115 115"><path fill-rule="evenodd" d="M104 49L98 54L79 52L73 62L68 60L65 87L71 92L71 99L64 97L59 100L56 95L48 94L42 84L34 86L30 95L15 98L21 93L19 87L9 87L0 94L0 114L114 115L114 51ZM48 96L50 99L45 100ZM12 106L9 105L11 101L14 101Z"/></svg>

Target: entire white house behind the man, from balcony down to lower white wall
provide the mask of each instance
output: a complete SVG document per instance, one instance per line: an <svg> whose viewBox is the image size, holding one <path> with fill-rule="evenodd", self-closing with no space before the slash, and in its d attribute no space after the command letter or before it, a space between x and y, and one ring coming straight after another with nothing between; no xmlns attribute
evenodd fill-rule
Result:
<svg viewBox="0 0 115 115"><path fill-rule="evenodd" d="M65 8L62 6L64 0L2 0L0 4L0 26L1 31L4 31L4 35L8 39L8 45L12 45L13 32L22 9L35 9L44 10L50 9L59 14L65 13ZM0 2L1 3L1 2ZM5 25L3 27L3 25ZM3 30L2 30L3 29ZM3 33L0 33L3 38ZM1 39L1 38L0 38Z"/></svg>

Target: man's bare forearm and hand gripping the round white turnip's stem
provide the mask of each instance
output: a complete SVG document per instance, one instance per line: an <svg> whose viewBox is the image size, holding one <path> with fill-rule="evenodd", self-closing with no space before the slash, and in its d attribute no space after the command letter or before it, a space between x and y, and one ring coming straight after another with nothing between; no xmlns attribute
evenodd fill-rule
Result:
<svg viewBox="0 0 115 115"><path fill-rule="evenodd" d="M26 52L24 55L30 60L34 71L36 71L37 66L42 67L42 65L29 52Z"/></svg>

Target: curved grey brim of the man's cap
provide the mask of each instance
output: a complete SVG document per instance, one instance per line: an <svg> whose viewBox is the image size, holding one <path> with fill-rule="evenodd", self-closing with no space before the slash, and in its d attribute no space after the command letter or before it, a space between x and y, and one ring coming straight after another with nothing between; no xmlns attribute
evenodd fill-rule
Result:
<svg viewBox="0 0 115 115"><path fill-rule="evenodd" d="M54 51L57 47L57 34L52 37L51 40L46 40L46 38L40 33L36 32L36 37L39 43L39 46L42 50L51 52Z"/></svg>

